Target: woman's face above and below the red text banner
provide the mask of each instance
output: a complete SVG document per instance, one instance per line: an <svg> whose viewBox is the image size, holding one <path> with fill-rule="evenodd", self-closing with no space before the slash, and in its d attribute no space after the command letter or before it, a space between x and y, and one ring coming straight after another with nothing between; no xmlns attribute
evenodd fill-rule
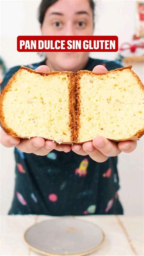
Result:
<svg viewBox="0 0 144 256"><path fill-rule="evenodd" d="M91 36L93 12L88 0L58 0L51 5L41 27L43 36ZM73 71L82 69L88 52L47 52L50 70Z"/></svg>

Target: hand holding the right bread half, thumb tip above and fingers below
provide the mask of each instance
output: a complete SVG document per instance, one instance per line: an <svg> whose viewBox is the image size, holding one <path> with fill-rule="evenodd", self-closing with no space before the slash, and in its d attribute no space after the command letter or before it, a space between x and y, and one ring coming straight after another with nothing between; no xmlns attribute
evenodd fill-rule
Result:
<svg viewBox="0 0 144 256"><path fill-rule="evenodd" d="M107 69L98 65L94 67L95 73L106 73ZM99 163L104 162L108 157L114 157L120 154L122 151L130 153L135 150L137 141L127 140L115 143L102 136L95 137L92 141L85 142L84 144L73 144L71 149L79 155L89 155L91 159Z"/></svg>

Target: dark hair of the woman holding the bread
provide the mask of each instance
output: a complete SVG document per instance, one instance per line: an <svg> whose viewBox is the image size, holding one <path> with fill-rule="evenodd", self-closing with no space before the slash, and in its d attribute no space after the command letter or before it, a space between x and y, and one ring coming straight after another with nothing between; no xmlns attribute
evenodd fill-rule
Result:
<svg viewBox="0 0 144 256"><path fill-rule="evenodd" d="M39 5L39 22L42 25L43 24L43 20L44 20L44 16L46 13L46 10L53 5L54 3L56 3L58 0L42 0L40 5ZM92 9L93 12L93 22L94 22L94 8L95 8L95 3L94 0L89 0L90 3L90 7Z"/></svg>

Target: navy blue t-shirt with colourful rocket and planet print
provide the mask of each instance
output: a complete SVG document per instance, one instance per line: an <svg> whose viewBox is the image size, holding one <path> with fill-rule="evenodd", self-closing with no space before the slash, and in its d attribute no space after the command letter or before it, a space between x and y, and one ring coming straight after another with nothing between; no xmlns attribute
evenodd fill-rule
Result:
<svg viewBox="0 0 144 256"><path fill-rule="evenodd" d="M44 60L27 67L36 69L45 64ZM108 71L122 67L118 61L89 58L84 70L92 71L96 65L104 65ZM12 67L5 74L2 88L19 68ZM98 163L72 150L52 150L46 156L23 153L17 148L14 152L15 191L9 214L123 214L117 193L117 157Z"/></svg>

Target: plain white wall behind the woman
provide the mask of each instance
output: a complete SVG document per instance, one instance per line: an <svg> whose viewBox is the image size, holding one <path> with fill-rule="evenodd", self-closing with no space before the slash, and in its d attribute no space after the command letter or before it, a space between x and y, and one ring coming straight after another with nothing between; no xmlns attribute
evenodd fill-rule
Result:
<svg viewBox="0 0 144 256"><path fill-rule="evenodd" d="M66 0L67 1L67 0ZM19 35L39 35L36 19L40 1L1 2L1 47L2 58L7 67L40 61L36 53L20 53L16 50ZM119 45L129 42L135 33L135 1L97 1L95 35L117 35ZM94 53L92 57L113 60L117 53ZM133 70L143 81L142 65ZM143 212L143 138L136 150L118 157L120 176L120 198L126 215ZM1 146L1 214L6 214L11 203L14 188L13 149Z"/></svg>

